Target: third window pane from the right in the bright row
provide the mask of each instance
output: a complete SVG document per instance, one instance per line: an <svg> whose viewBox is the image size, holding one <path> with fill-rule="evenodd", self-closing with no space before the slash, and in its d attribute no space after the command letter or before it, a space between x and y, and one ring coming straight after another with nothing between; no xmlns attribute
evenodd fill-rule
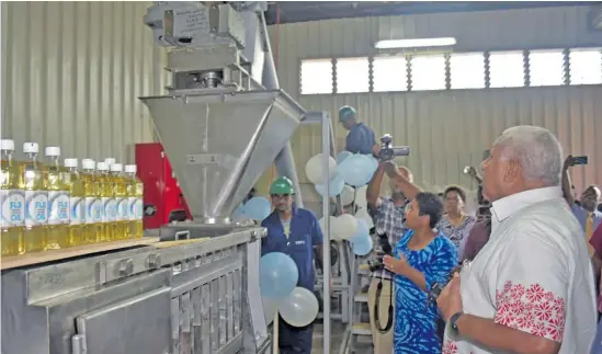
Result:
<svg viewBox="0 0 602 354"><path fill-rule="evenodd" d="M524 87L524 61L522 52L492 52L489 55L489 87Z"/></svg>

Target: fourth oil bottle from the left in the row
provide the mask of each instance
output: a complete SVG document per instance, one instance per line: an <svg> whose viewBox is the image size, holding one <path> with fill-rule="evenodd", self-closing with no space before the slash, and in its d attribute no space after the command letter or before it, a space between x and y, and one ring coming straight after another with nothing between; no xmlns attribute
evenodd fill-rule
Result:
<svg viewBox="0 0 602 354"><path fill-rule="evenodd" d="M83 181L78 171L78 159L65 159L66 182L69 185L69 244L80 245L83 241L83 226L86 225L86 193L83 192Z"/></svg>

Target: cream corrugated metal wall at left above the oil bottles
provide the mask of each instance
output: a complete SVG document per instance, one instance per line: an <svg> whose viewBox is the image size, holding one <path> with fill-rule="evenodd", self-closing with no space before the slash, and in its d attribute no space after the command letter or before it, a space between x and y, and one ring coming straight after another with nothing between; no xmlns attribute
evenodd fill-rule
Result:
<svg viewBox="0 0 602 354"><path fill-rule="evenodd" d="M66 157L133 162L152 141L138 96L162 92L147 2L2 2L2 133Z"/></svg>

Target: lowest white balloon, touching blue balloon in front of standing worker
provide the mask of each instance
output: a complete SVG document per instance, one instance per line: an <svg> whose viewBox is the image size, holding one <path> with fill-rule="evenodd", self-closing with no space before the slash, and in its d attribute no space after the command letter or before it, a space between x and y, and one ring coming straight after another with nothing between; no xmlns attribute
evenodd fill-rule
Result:
<svg viewBox="0 0 602 354"><path fill-rule="evenodd" d="M306 327L318 317L318 299L304 287L293 289L280 306L280 316L293 327Z"/></svg>

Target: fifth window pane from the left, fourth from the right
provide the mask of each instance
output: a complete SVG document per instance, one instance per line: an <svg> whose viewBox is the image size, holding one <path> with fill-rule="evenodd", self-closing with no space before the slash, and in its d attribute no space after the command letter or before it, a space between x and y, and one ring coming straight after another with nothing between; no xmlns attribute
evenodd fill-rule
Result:
<svg viewBox="0 0 602 354"><path fill-rule="evenodd" d="M485 55L482 53L452 54L450 73L452 89L484 89Z"/></svg>

